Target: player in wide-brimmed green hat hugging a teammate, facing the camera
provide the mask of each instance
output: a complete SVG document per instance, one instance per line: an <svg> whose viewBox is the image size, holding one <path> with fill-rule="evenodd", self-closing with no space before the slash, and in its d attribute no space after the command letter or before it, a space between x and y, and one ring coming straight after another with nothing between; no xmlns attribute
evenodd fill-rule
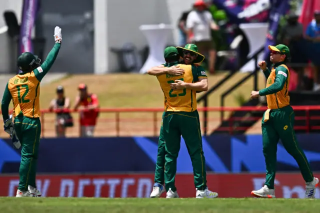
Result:
<svg viewBox="0 0 320 213"><path fill-rule="evenodd" d="M204 59L204 56L198 53L198 49L195 44L191 44L191 43L186 44L184 48L177 46L176 49L178 50L180 57L183 58L183 61L182 61L183 64L192 64L192 66L194 66L193 68L196 68L198 71L204 71L202 66L194 64L194 63L200 63ZM179 68L179 65L165 67L164 64L162 64L162 65L150 68L147 71L147 73L149 75L159 75L164 73L171 74L171 75L181 75L184 73L184 70L182 68ZM164 138L162 133L162 125L161 125L159 140L158 140L157 160L155 164L154 184L153 184L153 190L150 194L150 197L159 197L165 191L165 188L163 186L164 156L165 156Z"/></svg>

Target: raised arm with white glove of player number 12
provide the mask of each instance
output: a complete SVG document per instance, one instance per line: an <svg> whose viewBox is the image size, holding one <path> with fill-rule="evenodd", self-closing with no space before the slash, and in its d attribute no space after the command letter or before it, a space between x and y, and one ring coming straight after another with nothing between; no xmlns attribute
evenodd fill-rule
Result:
<svg viewBox="0 0 320 213"><path fill-rule="evenodd" d="M61 46L61 40L62 40L62 34L61 34L61 28L56 26L54 28L54 41L55 44L53 48L50 50L48 55L46 56L44 62L41 64L41 66L34 69L34 74L36 78L41 81L44 75L49 71L52 64L55 61L56 56L58 55L60 46Z"/></svg>

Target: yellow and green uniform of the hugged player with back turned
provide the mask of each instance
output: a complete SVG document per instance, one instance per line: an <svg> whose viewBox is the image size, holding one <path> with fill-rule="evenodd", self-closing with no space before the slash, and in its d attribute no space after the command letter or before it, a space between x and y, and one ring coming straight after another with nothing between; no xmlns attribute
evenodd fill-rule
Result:
<svg viewBox="0 0 320 213"><path fill-rule="evenodd" d="M170 83L173 83L176 79L193 83L198 81L199 78L206 78L206 75L203 69L197 69L197 66L194 65L178 64L177 62L165 64L165 66L172 65L180 65L180 68L184 69L184 74L180 76L170 74L157 76L164 94L164 112L160 130L160 135L163 137L160 136L159 143L162 141L165 147L165 163L163 166L165 188L166 190L169 190L169 188L172 191L176 190L174 185L176 158L182 135L193 166L194 185L196 188L203 190L206 188L205 158L202 150L199 115L196 110L196 91L191 89L173 90L170 88ZM158 156L161 156L159 149ZM157 160L159 160L159 157ZM163 159L161 162L163 162ZM155 174L155 182L157 182L157 176L161 176L160 173L159 175Z"/></svg>

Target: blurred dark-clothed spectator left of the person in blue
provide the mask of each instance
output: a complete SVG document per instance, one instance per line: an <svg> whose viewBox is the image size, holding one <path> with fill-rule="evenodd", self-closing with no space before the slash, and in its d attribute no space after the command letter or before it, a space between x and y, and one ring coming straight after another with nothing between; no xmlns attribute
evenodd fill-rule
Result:
<svg viewBox="0 0 320 213"><path fill-rule="evenodd" d="M303 25L298 22L299 16L291 12L287 16L287 23L283 26L280 36L281 41L290 48L292 68L298 74L297 89L304 90L304 67L308 62L306 40L303 38Z"/></svg>

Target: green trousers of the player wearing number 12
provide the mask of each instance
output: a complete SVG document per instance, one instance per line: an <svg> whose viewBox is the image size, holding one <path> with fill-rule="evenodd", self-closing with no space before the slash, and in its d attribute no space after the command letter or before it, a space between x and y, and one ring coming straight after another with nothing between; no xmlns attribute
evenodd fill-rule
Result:
<svg viewBox="0 0 320 213"><path fill-rule="evenodd" d="M17 116L14 118L14 128L21 143L18 189L26 191L28 185L36 187L35 173L41 134L40 119Z"/></svg>

